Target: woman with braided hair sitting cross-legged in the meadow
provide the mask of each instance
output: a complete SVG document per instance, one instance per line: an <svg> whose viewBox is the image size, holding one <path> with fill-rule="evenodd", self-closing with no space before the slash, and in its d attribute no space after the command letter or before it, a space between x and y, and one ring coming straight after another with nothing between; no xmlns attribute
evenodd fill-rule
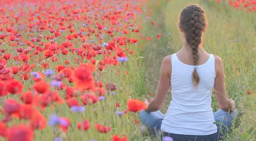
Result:
<svg viewBox="0 0 256 141"><path fill-rule="evenodd" d="M201 46L207 21L204 10L188 5L180 14L179 28L185 38L183 47L163 59L155 97L146 110L140 112L142 123L154 134L175 140L219 140L226 127L238 116L236 103L228 99L224 84L224 69L219 56L208 54ZM172 101L167 113L162 107L172 86ZM211 108L212 89L215 89L220 110ZM215 123L216 122L216 123Z"/></svg>

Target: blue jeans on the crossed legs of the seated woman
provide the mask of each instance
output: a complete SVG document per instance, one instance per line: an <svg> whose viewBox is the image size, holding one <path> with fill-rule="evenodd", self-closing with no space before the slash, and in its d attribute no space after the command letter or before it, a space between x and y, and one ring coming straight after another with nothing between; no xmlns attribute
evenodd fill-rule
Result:
<svg viewBox="0 0 256 141"><path fill-rule="evenodd" d="M238 110L234 110L233 112L229 113L225 112L223 110L218 110L214 113L214 119L216 121L216 126L218 131L214 134L210 135L181 135L181 134L173 134L173 133L166 133L163 132L162 136L170 136L173 137L174 140L178 141L195 141L195 140L220 140L220 136L223 136L223 134L227 131L226 129L231 126L232 120L234 120L235 117L238 116ZM164 119L165 115L162 114L160 111L156 112L146 112L145 110L142 110L140 112L140 118L142 123L147 127L147 129L156 137L161 131L161 125L162 120Z"/></svg>

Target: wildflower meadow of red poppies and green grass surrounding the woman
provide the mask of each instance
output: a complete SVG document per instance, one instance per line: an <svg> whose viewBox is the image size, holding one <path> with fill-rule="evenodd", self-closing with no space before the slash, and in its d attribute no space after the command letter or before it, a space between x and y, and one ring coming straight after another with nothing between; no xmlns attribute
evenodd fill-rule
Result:
<svg viewBox="0 0 256 141"><path fill-rule="evenodd" d="M256 140L255 0L0 1L0 140L156 140L138 112L188 4L205 10L203 47L240 112L223 140Z"/></svg>

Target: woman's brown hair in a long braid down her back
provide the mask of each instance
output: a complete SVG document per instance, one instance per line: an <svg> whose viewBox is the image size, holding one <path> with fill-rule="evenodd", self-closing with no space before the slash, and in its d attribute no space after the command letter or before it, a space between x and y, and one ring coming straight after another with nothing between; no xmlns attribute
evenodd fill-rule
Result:
<svg viewBox="0 0 256 141"><path fill-rule="evenodd" d="M186 6L180 14L180 28L184 31L186 44L190 46L193 53L195 69L192 73L192 80L195 87L199 83L197 65L199 59L199 46L202 43L202 33L207 26L204 10L198 5Z"/></svg>

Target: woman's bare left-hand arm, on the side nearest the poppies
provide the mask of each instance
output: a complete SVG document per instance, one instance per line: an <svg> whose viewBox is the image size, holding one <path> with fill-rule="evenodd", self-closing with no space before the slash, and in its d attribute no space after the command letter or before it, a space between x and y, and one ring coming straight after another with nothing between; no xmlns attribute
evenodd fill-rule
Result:
<svg viewBox="0 0 256 141"><path fill-rule="evenodd" d="M155 112L159 110L164 102L164 99L170 88L170 75L172 73L171 55L164 57L161 70L160 79L158 83L157 93L155 97L148 104L146 112Z"/></svg>

